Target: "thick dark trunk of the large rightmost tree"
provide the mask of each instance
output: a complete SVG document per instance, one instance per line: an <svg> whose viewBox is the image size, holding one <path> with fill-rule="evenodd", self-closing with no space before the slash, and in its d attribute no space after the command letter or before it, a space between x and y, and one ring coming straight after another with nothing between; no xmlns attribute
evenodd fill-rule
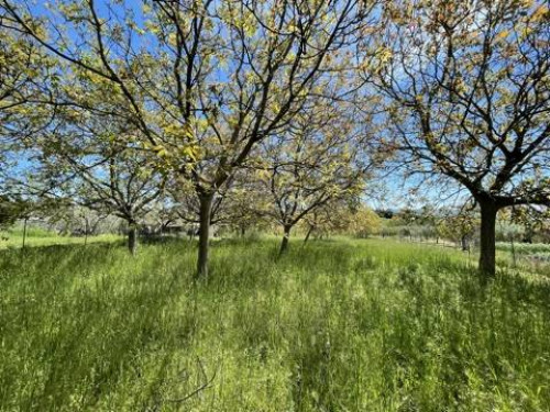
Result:
<svg viewBox="0 0 550 412"><path fill-rule="evenodd" d="M498 208L493 202L480 202L481 205L481 233L480 233L480 271L486 278L493 278L496 272L495 265L495 232L496 212Z"/></svg>

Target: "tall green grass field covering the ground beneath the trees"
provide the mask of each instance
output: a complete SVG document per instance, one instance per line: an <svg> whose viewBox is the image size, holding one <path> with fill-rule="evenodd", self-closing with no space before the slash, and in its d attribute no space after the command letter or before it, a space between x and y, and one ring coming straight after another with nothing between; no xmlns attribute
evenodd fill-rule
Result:
<svg viewBox="0 0 550 412"><path fill-rule="evenodd" d="M550 285L324 241L0 250L2 411L547 411Z"/></svg>

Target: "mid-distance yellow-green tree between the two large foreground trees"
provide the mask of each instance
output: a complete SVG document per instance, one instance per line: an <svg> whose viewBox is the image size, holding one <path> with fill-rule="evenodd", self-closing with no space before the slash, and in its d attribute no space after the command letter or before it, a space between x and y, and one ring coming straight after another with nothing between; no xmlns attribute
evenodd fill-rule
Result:
<svg viewBox="0 0 550 412"><path fill-rule="evenodd" d="M293 227L309 213L364 188L371 163L360 147L366 136L344 114L334 105L310 108L262 144L257 175L272 199L264 212L283 227L280 254Z"/></svg>

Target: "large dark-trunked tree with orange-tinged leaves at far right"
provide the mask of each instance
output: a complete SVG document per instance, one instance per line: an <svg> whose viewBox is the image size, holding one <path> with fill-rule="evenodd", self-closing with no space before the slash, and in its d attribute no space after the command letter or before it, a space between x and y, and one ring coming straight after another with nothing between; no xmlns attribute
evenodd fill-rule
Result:
<svg viewBox="0 0 550 412"><path fill-rule="evenodd" d="M384 14L365 66L396 136L386 144L413 172L470 191L481 209L480 269L491 278L497 211L550 204L548 7L405 0Z"/></svg>

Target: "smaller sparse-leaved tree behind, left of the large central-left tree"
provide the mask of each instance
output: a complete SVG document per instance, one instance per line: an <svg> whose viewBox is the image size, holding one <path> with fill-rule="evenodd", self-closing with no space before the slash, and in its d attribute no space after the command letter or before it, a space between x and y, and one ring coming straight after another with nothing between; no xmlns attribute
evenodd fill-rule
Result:
<svg viewBox="0 0 550 412"><path fill-rule="evenodd" d="M150 167L150 153L118 143L129 133L113 124L95 129L94 123L77 127L70 122L67 130L56 127L44 136L38 172L44 191L127 222L128 247L134 255L140 222L162 196L165 176Z"/></svg>

